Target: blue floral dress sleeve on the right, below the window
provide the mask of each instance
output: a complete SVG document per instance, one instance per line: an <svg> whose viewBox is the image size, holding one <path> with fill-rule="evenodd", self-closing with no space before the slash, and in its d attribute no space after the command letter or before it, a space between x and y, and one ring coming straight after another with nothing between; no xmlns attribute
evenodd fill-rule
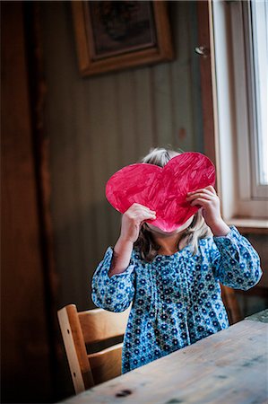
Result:
<svg viewBox="0 0 268 404"><path fill-rule="evenodd" d="M222 285L247 290L262 277L260 259L235 226L226 236L213 237L211 257L214 276Z"/></svg>

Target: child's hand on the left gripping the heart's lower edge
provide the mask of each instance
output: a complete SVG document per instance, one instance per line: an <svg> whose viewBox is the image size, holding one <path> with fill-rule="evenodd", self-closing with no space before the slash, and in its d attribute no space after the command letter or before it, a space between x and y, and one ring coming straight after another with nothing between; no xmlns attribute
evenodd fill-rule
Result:
<svg viewBox="0 0 268 404"><path fill-rule="evenodd" d="M141 226L146 220L156 219L156 213L149 207L134 203L122 216L120 239L124 242L136 242Z"/></svg>

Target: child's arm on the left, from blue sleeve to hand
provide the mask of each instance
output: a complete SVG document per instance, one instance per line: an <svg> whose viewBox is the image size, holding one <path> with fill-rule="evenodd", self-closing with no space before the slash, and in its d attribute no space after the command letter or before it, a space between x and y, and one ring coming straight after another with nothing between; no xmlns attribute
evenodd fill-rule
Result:
<svg viewBox="0 0 268 404"><path fill-rule="evenodd" d="M155 212L134 204L122 216L120 237L114 250L109 248L92 278L92 301L110 312L124 312L134 298L134 242L145 220Z"/></svg>

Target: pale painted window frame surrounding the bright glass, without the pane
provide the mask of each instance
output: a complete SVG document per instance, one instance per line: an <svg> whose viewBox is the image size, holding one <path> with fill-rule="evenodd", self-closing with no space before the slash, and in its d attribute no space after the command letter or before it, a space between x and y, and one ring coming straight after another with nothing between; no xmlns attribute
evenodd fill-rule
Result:
<svg viewBox="0 0 268 404"><path fill-rule="evenodd" d="M250 111L255 109L250 103L253 89L248 86L243 3L210 2L218 192L228 224L268 229L268 201L254 192L255 138L250 134L255 133L255 116Z"/></svg>

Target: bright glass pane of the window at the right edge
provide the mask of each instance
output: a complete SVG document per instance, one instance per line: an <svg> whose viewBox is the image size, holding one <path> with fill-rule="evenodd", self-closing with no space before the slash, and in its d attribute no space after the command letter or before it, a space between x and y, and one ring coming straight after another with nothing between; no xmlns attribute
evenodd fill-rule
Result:
<svg viewBox="0 0 268 404"><path fill-rule="evenodd" d="M252 196L253 198L267 198L268 4L255 1L243 2L242 12L246 48L248 118L252 133Z"/></svg>

